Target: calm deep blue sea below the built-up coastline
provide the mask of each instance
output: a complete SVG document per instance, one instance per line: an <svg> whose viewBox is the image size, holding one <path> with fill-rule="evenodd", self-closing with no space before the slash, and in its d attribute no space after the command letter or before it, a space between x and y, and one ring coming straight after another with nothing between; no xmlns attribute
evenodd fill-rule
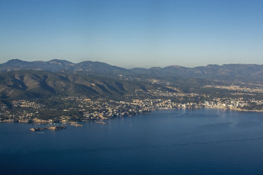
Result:
<svg viewBox="0 0 263 175"><path fill-rule="evenodd" d="M263 113L159 110L30 132L0 123L1 174L263 174Z"/></svg>

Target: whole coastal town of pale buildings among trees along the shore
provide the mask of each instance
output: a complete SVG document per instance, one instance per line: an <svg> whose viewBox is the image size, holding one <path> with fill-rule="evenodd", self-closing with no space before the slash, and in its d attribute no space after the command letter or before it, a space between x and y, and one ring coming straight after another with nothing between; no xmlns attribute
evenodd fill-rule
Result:
<svg viewBox="0 0 263 175"><path fill-rule="evenodd" d="M206 86L213 88L214 86ZM217 86L216 88L226 88ZM227 89L240 90L230 86ZM261 92L261 89L242 89L245 93ZM141 90L135 91L139 94ZM95 120L103 123L103 119L149 113L157 109L175 108L220 108L240 111L263 111L263 100L244 97L214 97L209 94L168 92L149 90L152 98L133 98L129 101L91 99L81 96L65 96L50 98L50 102L37 100L12 100L0 103L1 122L69 122L80 126L77 121ZM133 95L133 97L136 97ZM55 102L54 102L55 101ZM54 102L54 104L52 104ZM58 104L59 103L59 104ZM75 124L74 124L75 123Z"/></svg>

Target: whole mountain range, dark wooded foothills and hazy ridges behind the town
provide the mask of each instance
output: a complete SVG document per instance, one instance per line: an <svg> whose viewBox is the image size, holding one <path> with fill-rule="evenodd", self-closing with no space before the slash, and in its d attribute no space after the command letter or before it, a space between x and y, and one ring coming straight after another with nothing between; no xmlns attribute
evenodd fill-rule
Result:
<svg viewBox="0 0 263 175"><path fill-rule="evenodd" d="M262 82L263 65L126 69L97 61L73 63L60 59L31 62L11 59L0 64L0 96L5 98L49 95L122 98L138 89L187 91L215 80Z"/></svg>

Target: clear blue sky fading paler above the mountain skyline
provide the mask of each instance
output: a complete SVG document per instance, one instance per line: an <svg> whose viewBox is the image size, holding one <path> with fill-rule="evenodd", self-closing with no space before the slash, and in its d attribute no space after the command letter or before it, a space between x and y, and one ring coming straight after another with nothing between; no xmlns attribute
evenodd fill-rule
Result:
<svg viewBox="0 0 263 175"><path fill-rule="evenodd" d="M263 0L0 0L0 62L263 64Z"/></svg>

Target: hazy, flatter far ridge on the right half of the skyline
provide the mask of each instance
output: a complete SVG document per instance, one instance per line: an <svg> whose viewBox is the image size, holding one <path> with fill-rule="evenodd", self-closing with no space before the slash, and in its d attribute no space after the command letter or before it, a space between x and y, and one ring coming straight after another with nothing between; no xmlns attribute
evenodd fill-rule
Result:
<svg viewBox="0 0 263 175"><path fill-rule="evenodd" d="M176 76L180 78L203 78L218 80L263 81L263 65L259 64L208 64L198 67L170 65L167 67L132 68L136 73Z"/></svg>

